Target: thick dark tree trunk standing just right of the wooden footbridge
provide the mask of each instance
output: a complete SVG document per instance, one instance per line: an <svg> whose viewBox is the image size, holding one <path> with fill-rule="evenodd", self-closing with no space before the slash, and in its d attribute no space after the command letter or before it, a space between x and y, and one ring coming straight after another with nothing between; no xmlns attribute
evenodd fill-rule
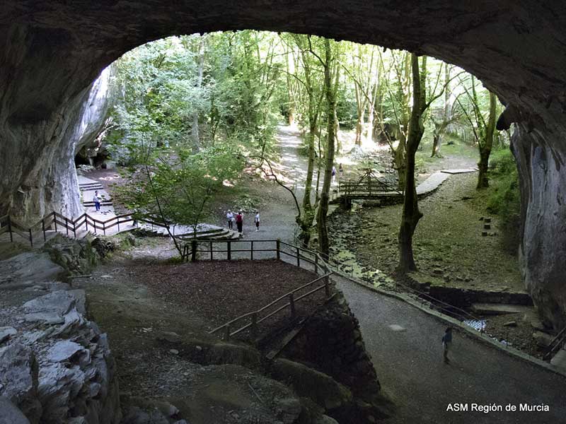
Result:
<svg viewBox="0 0 566 424"><path fill-rule="evenodd" d="M422 218L417 202L417 189L415 186L415 153L424 133L422 114L426 109L426 93L424 80L426 78L426 58L423 58L422 76L419 73L419 59L411 54L412 65L412 109L409 123L409 133L406 146L405 165L405 197L403 199L403 217L399 229L399 266L400 272L415 271L415 258L412 254L412 235L415 233L417 223Z"/></svg>

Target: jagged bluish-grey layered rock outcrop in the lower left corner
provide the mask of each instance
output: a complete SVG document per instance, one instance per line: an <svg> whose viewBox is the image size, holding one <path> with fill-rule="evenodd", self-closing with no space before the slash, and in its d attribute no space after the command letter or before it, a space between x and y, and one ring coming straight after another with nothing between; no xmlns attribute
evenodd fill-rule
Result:
<svg viewBox="0 0 566 424"><path fill-rule="evenodd" d="M56 278L63 269L45 253L27 254L37 266L25 272L6 266L9 259L0 262L8 271L0 281L1 298L13 305L0 309L0 399L11 401L0 404L0 417L10 413L16 419L17 407L31 424L118 423L115 362L106 334L84 317L85 293L37 281L34 271Z"/></svg>

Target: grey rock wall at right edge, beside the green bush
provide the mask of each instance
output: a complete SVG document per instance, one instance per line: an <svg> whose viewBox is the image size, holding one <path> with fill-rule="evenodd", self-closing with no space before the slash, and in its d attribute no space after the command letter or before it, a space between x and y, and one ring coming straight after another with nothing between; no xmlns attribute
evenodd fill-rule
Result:
<svg viewBox="0 0 566 424"><path fill-rule="evenodd" d="M555 329L566 326L566 130L541 134L516 126L513 152L519 167L521 273L533 302Z"/></svg>

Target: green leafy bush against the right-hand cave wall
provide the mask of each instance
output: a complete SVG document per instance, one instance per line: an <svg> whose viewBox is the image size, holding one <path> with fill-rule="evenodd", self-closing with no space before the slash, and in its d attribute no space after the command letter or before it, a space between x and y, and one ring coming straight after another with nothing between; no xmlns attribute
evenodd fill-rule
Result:
<svg viewBox="0 0 566 424"><path fill-rule="evenodd" d="M511 151L502 149L492 153L490 184L487 211L499 216L504 248L516 254L521 241L521 196L519 174Z"/></svg>

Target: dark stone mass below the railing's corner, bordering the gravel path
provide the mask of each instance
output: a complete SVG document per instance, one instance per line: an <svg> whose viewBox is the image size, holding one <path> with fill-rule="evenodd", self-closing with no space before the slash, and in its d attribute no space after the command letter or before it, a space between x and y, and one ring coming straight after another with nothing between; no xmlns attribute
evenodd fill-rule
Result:
<svg viewBox="0 0 566 424"><path fill-rule="evenodd" d="M391 403L380 394L359 322L342 293L335 293L306 319L281 355L293 362L275 361L275 375L287 376L299 394L311 397L340 423L371 422L390 412ZM313 370L301 372L305 365Z"/></svg>

